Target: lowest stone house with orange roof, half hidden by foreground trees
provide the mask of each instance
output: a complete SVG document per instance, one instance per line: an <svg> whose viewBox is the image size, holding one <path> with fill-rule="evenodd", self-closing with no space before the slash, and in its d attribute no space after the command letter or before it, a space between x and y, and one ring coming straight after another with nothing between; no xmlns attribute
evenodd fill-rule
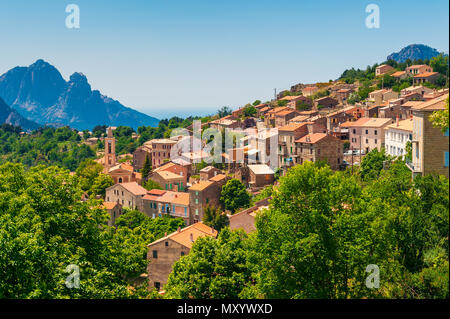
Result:
<svg viewBox="0 0 450 319"><path fill-rule="evenodd" d="M161 289L172 272L172 265L187 255L192 244L199 237L217 237L217 231L199 222L183 229L178 229L157 241L147 245L147 274L149 287Z"/></svg>

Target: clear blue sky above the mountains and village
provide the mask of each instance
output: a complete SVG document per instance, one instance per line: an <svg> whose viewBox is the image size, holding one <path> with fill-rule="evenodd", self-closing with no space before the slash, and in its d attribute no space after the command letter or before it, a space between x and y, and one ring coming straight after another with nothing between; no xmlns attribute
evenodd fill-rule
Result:
<svg viewBox="0 0 450 319"><path fill-rule="evenodd" d="M80 8L67 29L66 5ZM380 28L365 8L380 7ZM336 79L412 43L448 51L448 1L0 0L0 74L43 58L158 118Z"/></svg>

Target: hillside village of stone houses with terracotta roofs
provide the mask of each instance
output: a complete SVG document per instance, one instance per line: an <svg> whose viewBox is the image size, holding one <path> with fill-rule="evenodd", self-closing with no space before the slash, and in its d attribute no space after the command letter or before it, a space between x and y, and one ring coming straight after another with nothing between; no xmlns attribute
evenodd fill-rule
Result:
<svg viewBox="0 0 450 319"><path fill-rule="evenodd" d="M388 62L374 66L374 74L365 79L297 84L271 101L255 101L202 123L202 130L256 130L256 140L267 145L276 136L275 162L262 161L261 144L249 138L224 149L223 162L211 165L202 161L201 152L171 158L181 136L151 139L132 154L119 156L115 128L109 127L101 138L104 153L97 160L114 181L102 204L110 216L108 224L114 226L127 209L150 218L181 218L185 224L148 243L147 271L140 279L164 293L173 264L189 254L193 242L217 236L217 230L205 224L211 209L226 215L230 229L253 232L255 217L271 200L266 190L276 187L290 168L306 162L353 171L375 150L404 160L412 177L435 173L448 178L448 129L443 133L430 121L430 115L448 103L448 78L427 64L402 67ZM192 125L188 130L192 134ZM223 190L236 180L252 200L230 208Z"/></svg>

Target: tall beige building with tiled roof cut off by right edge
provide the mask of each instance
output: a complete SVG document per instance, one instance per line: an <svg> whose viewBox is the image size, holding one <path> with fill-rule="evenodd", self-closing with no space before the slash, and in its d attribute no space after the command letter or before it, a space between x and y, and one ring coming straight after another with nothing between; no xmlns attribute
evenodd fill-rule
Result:
<svg viewBox="0 0 450 319"><path fill-rule="evenodd" d="M413 138L412 163L409 167L413 175L436 173L448 178L449 174L449 134L430 122L430 115L434 111L445 108L448 94L433 100L423 102L412 108Z"/></svg>

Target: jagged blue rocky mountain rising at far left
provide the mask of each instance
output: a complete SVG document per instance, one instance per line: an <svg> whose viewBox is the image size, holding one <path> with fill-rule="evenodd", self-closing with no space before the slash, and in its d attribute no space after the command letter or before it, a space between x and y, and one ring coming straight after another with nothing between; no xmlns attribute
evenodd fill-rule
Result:
<svg viewBox="0 0 450 319"><path fill-rule="evenodd" d="M69 125L78 130L96 125L158 126L159 120L92 90L85 75L65 81L44 60L15 67L0 76L0 98L19 115L39 124ZM1 123L1 118L0 118Z"/></svg>

